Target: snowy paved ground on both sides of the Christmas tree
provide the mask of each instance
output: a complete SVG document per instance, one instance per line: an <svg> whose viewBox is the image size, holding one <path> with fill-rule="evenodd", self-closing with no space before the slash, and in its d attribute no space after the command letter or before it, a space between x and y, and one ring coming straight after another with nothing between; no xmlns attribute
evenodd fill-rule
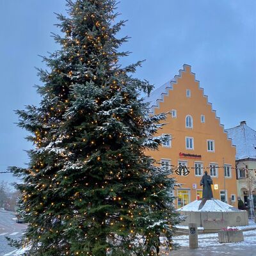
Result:
<svg viewBox="0 0 256 256"><path fill-rule="evenodd" d="M7 212L0 209L0 256L17 256L19 251L8 246L5 236L19 238L26 229L26 225L16 223L13 212ZM250 228L256 228L255 223L250 222ZM243 227L247 228L247 227ZM220 244L218 234L200 234L198 235L198 249L189 249L188 236L175 236L175 243L180 244L177 251L169 253L169 256L255 256L256 255L256 229L244 230L244 241L241 243ZM168 255L166 253L165 255Z"/></svg>

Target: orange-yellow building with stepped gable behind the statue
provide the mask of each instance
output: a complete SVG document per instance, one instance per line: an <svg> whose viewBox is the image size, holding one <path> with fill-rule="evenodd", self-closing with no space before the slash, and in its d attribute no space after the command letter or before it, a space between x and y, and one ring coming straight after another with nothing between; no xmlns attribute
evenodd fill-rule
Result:
<svg viewBox="0 0 256 256"><path fill-rule="evenodd" d="M159 134L170 134L170 141L150 151L150 156L166 168L177 170L186 165L188 175L173 176L182 184L172 193L176 207L202 197L200 180L205 170L211 175L214 198L237 207L236 147L227 138L220 118L212 110L204 90L200 88L189 65L184 65L179 76L150 95L152 114L170 112L167 124Z"/></svg>

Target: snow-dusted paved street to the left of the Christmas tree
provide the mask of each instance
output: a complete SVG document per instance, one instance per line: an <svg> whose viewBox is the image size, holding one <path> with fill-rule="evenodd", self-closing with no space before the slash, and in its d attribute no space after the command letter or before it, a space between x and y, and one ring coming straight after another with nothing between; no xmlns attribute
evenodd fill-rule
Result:
<svg viewBox="0 0 256 256"><path fill-rule="evenodd" d="M13 212L0 209L0 256L12 256L16 252L15 248L8 246L6 236L12 239L19 239L22 232L26 229L26 225L16 223L13 218Z"/></svg>

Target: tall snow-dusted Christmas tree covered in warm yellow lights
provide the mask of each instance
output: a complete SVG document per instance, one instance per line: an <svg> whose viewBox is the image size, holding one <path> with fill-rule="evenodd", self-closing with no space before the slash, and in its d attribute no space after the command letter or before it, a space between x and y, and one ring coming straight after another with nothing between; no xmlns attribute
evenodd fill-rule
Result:
<svg viewBox="0 0 256 256"><path fill-rule="evenodd" d="M39 70L39 106L17 111L35 149L28 168L11 168L22 184L20 212L28 230L16 246L24 255L158 255L175 246L179 217L172 206L170 171L145 152L165 114L148 115L140 93L152 86L132 76L138 62L119 64L127 38L116 33L115 0L67 1L58 15L60 50ZM160 239L161 238L161 239Z"/></svg>

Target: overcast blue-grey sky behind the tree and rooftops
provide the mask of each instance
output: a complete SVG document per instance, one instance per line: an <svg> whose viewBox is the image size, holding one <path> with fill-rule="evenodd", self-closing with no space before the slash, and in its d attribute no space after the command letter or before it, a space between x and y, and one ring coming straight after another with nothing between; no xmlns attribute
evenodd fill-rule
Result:
<svg viewBox="0 0 256 256"><path fill-rule="evenodd" d="M0 172L28 163L33 145L13 110L40 102L35 67L59 47L54 12L65 13L64 0L0 1ZM119 36L131 37L122 65L146 60L136 76L157 88L189 64L225 128L246 120L256 130L255 0L121 0L118 12L127 20Z"/></svg>

